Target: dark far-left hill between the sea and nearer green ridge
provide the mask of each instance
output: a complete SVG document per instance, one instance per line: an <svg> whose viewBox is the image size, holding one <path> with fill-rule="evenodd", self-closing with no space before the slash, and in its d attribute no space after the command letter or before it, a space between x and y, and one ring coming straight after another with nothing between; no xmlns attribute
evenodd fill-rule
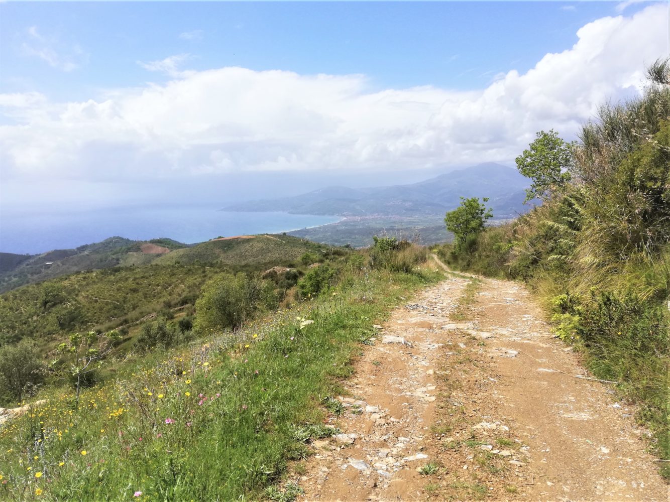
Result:
<svg viewBox="0 0 670 502"><path fill-rule="evenodd" d="M53 250L42 254L0 253L0 292L83 270L150 263L157 255L147 252L146 248L143 250L143 244L160 246L168 251L186 246L167 238L138 242L123 237L111 237L74 249Z"/></svg>

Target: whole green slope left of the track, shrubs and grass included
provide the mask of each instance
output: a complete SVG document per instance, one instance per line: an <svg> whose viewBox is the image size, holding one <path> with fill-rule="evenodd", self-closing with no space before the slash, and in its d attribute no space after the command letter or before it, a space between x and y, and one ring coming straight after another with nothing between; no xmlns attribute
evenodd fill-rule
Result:
<svg viewBox="0 0 670 502"><path fill-rule="evenodd" d="M226 244L205 243L194 260L181 252L170 264L7 293L7 312L24 314L17 328L75 301L88 319L81 327L107 324L46 337L34 329L0 347L3 397L22 406L0 414L0 499L292 500L299 489L277 485L308 440L337 432L324 417L341 411L337 382L360 343L391 305L440 274L424 264L425 249L393 238L351 250L271 237L299 254L235 269L216 261L229 241L214 241ZM214 261L196 261L206 256ZM140 306L98 319L86 307L93 290L95 309ZM123 290L132 295L114 296Z"/></svg>

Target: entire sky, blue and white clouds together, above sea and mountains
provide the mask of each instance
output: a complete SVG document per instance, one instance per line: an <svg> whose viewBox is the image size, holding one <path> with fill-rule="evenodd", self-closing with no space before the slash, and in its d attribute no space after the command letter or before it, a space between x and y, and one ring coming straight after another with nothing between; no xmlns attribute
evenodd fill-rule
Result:
<svg viewBox="0 0 670 502"><path fill-rule="evenodd" d="M0 211L513 166L668 55L667 2L0 3Z"/></svg>

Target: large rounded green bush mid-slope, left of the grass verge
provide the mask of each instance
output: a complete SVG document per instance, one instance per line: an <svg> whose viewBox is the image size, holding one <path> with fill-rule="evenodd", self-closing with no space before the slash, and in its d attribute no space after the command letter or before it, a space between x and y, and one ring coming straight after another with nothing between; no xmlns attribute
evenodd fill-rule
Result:
<svg viewBox="0 0 670 502"><path fill-rule="evenodd" d="M239 328L259 308L263 281L247 274L220 274L202 287L193 327L200 333Z"/></svg>

